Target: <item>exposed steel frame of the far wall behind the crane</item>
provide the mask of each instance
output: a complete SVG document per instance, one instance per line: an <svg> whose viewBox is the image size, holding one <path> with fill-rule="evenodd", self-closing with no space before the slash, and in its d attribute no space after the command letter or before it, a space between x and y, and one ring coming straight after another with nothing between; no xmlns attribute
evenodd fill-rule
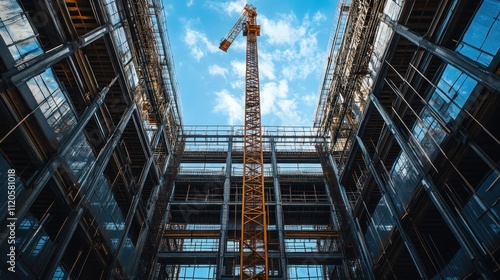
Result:
<svg viewBox="0 0 500 280"><path fill-rule="evenodd" d="M184 132L158 279L239 278L244 127ZM336 179L323 172L324 141L312 128L262 127L270 279L370 279Z"/></svg>

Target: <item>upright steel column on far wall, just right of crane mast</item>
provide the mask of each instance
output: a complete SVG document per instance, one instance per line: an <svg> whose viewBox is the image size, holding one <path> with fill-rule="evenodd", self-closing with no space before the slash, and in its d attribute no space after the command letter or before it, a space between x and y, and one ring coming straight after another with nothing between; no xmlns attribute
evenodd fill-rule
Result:
<svg viewBox="0 0 500 280"><path fill-rule="evenodd" d="M281 188L278 177L278 161L276 158L276 144L274 138L271 137L271 164L273 174L273 192L274 200L276 202L276 230L278 231L278 242L280 248L280 264L281 264L281 277L283 280L288 279L287 273L287 258L285 250L285 226L283 225L283 205L281 203Z"/></svg>

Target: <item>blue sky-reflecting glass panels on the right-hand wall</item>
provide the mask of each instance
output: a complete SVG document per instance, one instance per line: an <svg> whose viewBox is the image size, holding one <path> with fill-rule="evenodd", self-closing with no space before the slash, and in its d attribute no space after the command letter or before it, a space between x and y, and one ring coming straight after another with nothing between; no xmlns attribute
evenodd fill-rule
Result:
<svg viewBox="0 0 500 280"><path fill-rule="evenodd" d="M500 5L497 2L484 1L464 33L462 41L458 43L456 51L474 61L489 66L489 63L493 59L492 54L496 54L500 48L498 44L492 43L492 40L496 40L494 38L500 38L498 14L500 14ZM472 44L472 42L474 43ZM457 68L451 65L444 67L440 78L436 82L435 89L430 95L430 106L422 110L419 121L411 131L412 138L410 138L410 144L412 144L415 151L420 155L419 159L422 162L433 161L439 154L439 145L448 136L448 133L446 133L448 128L444 125L457 119L462 110L464 110L464 105L469 100L477 84L477 81L473 77L470 77ZM394 186L396 187L394 190L396 194L394 201L402 203L405 208L408 207L414 191L420 183L420 177L415 170L416 167L410 163L408 157L402 152L390 171ZM492 178L498 178L498 172L493 172L491 176ZM492 189L494 187L494 185L491 186ZM387 207L384 207L384 200L385 198L380 200L371 215L372 221L369 223L369 230L366 233L367 244L372 248L370 251L374 258L380 255L381 248L389 241L390 230L388 232L386 229L392 229L394 226L390 221L384 222L380 218L385 217L388 211ZM494 219L486 222L489 217L488 213L490 213L489 208L491 205L481 203L481 207L484 207L483 209L485 210L480 213L474 210L473 205L479 207L476 195L470 199L462 211L464 216L467 217L466 221L470 223L473 231L481 236L479 238L480 242L487 244L485 243L487 240L498 240L500 236L498 236L497 231L492 231L491 228L484 228L484 225L482 225L483 222L479 219L479 217L484 215L484 223L496 225ZM402 212L398 214L401 215ZM498 219L496 220L498 221ZM374 234L374 232L378 234ZM491 246L489 249L494 247Z"/></svg>

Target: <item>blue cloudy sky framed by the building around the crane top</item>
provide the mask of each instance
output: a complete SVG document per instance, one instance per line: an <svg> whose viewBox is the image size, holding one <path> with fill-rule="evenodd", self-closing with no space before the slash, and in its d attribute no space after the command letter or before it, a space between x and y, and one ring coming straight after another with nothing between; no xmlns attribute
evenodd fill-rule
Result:
<svg viewBox="0 0 500 280"><path fill-rule="evenodd" d="M263 125L312 126L336 0L253 1ZM185 125L241 125L246 37L219 50L246 1L165 2Z"/></svg>

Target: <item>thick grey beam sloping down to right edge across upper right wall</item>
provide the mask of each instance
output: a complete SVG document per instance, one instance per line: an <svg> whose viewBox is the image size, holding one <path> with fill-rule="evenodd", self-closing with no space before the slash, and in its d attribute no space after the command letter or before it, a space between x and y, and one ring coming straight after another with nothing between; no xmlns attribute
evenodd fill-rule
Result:
<svg viewBox="0 0 500 280"><path fill-rule="evenodd" d="M396 33L408 39L410 42L423 48L433 55L441 58L444 62L458 68L459 70L467 73L475 80L485 85L489 89L500 93L500 77L495 73L488 70L482 64L466 57L465 55L436 45L419 34L413 32L408 27L391 20L389 17L382 17L382 21L387 23Z"/></svg>

